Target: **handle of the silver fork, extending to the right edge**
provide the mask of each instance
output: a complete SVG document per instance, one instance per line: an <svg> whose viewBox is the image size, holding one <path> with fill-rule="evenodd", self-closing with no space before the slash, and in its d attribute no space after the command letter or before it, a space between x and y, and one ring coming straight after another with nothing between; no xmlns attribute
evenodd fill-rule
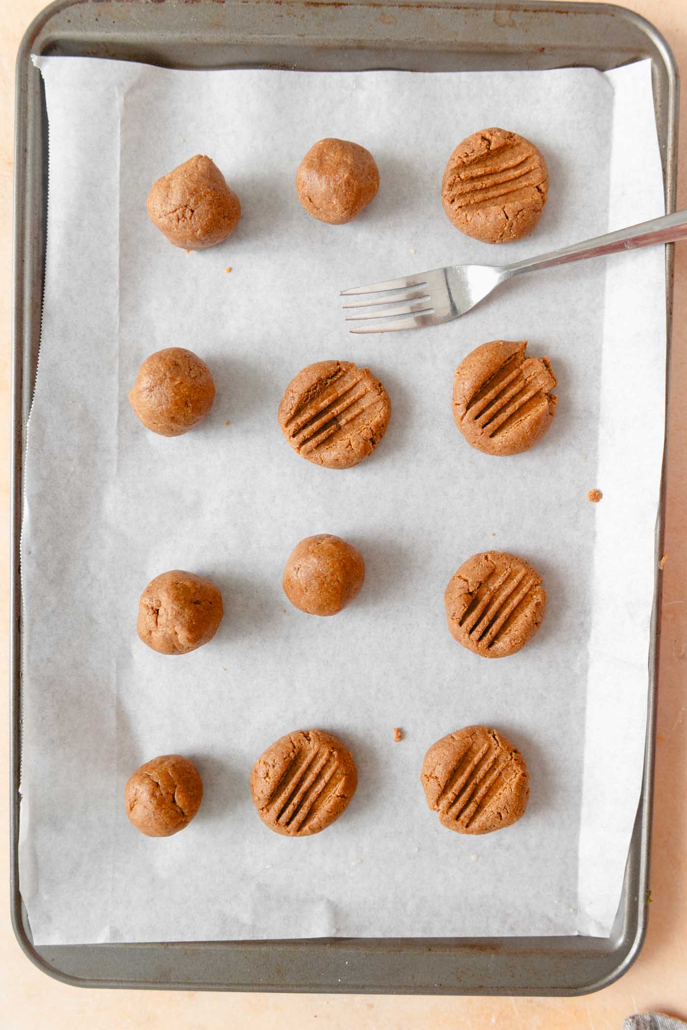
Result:
<svg viewBox="0 0 687 1030"><path fill-rule="evenodd" d="M601 258L603 254L614 254L619 250L635 250L638 247L649 247L656 243L673 243L675 240L687 239L687 211L676 211L664 214L651 221L642 221L639 226L628 229L618 229L606 236L596 236L592 240L574 243L572 247L562 247L538 258L528 258L503 269L507 277L519 275L520 272L534 272L538 268L551 268L553 265L567 265L571 261L581 261L583 258Z"/></svg>

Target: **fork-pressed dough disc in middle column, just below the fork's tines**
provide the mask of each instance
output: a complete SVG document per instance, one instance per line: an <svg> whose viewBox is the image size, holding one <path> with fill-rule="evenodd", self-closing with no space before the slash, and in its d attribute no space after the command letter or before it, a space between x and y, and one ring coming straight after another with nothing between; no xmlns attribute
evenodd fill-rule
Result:
<svg viewBox="0 0 687 1030"><path fill-rule="evenodd" d="M352 362L301 369L279 406L279 424L296 453L327 469L350 469L371 454L390 417L379 380Z"/></svg>

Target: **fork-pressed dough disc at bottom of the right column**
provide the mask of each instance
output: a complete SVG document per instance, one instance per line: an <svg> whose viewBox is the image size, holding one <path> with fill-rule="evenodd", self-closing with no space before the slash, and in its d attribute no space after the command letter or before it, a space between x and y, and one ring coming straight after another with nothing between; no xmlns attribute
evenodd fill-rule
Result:
<svg viewBox="0 0 687 1030"><path fill-rule="evenodd" d="M530 797L522 755L486 726L466 726L433 744L420 779L432 812L457 833L511 826L525 815Z"/></svg>

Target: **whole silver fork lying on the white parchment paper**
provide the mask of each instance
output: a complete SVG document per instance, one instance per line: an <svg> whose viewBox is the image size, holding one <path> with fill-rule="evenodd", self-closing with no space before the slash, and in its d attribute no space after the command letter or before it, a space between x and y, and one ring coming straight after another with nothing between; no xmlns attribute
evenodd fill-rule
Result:
<svg viewBox="0 0 687 1030"><path fill-rule="evenodd" d="M363 297L368 300L345 304L350 308L365 308L362 313L349 315L347 321L363 322L351 329L352 333L395 333L403 329L423 329L439 325L464 315L492 290L514 275L534 272L553 265L567 265L583 258L634 250L656 243L672 243L687 238L687 211L676 211L639 226L619 229L606 236L575 243L571 247L551 250L539 258L528 258L514 265L448 265L431 272L408 275L370 286L342 289L341 297Z"/></svg>

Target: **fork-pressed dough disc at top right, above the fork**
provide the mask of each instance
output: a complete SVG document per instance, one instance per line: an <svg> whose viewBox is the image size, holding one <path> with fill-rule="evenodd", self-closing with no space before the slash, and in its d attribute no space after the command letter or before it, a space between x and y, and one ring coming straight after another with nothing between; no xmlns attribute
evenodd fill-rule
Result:
<svg viewBox="0 0 687 1030"><path fill-rule="evenodd" d="M457 229L482 243L529 236L541 217L548 171L534 143L505 129L482 129L459 143L441 183Z"/></svg>

